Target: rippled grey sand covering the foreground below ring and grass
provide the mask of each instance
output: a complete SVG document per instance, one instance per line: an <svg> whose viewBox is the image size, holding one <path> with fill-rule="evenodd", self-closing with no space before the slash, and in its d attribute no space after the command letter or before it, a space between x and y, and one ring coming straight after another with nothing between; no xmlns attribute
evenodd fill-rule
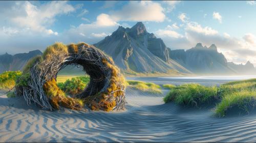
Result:
<svg viewBox="0 0 256 143"><path fill-rule="evenodd" d="M23 97L0 97L3 142L255 141L256 115L216 118L210 108L164 104L162 95L127 89L122 112L41 110Z"/></svg>

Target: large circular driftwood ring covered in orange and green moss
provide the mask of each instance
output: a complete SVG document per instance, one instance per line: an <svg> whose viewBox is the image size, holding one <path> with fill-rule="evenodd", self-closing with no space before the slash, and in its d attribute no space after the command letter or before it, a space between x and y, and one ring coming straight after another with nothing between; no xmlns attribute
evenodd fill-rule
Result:
<svg viewBox="0 0 256 143"><path fill-rule="evenodd" d="M59 70L67 65L80 65L90 75L90 82L76 98L66 97L56 84ZM36 103L48 110L59 106L81 110L83 104L92 110L122 110L125 103L125 81L113 60L98 48L86 43L68 46L55 43L47 47L25 67L17 79L17 95L27 104Z"/></svg>

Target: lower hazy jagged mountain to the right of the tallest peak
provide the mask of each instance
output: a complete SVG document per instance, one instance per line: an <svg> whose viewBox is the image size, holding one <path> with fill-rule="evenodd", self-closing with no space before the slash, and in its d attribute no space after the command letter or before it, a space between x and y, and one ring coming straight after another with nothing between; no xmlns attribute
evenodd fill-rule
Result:
<svg viewBox="0 0 256 143"><path fill-rule="evenodd" d="M217 51L215 44L209 48L198 43L188 50L169 50L169 56L196 74L242 74L255 72L253 65L228 63L225 56Z"/></svg>

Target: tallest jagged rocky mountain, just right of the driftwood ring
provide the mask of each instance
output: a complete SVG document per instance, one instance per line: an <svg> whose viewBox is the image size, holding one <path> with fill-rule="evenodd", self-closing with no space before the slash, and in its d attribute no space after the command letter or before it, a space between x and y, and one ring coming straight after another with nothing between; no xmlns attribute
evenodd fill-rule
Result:
<svg viewBox="0 0 256 143"><path fill-rule="evenodd" d="M94 44L112 56L116 65L125 71L167 72L175 70L190 73L169 58L168 48L160 38L148 33L142 22L132 28L119 26L111 36Z"/></svg>

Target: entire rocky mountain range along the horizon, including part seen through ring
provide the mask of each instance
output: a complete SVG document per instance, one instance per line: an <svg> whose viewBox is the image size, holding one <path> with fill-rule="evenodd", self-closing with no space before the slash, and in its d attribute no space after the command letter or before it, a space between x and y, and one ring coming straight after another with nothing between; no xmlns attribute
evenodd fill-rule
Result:
<svg viewBox="0 0 256 143"><path fill-rule="evenodd" d="M110 36L93 44L112 56L115 64L124 73L195 73L195 74L253 74L256 70L249 61L243 65L227 62L217 46L198 43L188 50L171 50L161 38L148 33L142 22L131 28L119 26ZM22 70L29 59L41 55L41 51L0 55L0 73ZM60 73L82 74L81 69L67 66Z"/></svg>

